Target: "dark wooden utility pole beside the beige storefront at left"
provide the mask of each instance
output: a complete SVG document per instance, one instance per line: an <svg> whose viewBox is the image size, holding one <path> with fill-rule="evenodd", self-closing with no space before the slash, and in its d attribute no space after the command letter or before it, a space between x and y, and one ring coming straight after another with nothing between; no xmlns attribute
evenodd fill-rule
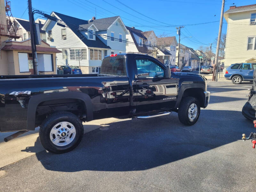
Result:
<svg viewBox="0 0 256 192"><path fill-rule="evenodd" d="M32 58L33 58L33 68L34 74L38 75L38 66L37 66L37 54L36 54L36 41L35 41L35 21L34 14L32 12L32 3L31 0L28 0L28 16L29 16L29 25L30 25L30 41L31 41L31 49L32 49Z"/></svg>

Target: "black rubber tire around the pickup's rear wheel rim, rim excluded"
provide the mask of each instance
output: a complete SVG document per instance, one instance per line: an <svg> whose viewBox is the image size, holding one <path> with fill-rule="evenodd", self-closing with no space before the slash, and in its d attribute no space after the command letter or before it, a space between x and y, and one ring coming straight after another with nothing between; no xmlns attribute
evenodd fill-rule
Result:
<svg viewBox="0 0 256 192"><path fill-rule="evenodd" d="M50 138L50 132L52 127L60 122L68 122L74 125L76 129L76 134L73 140L65 145L58 146L53 144ZM39 130L39 138L43 145L43 147L52 153L66 153L76 148L76 146L80 143L84 135L84 127L81 120L73 113L70 112L57 112L47 117L40 126Z"/></svg>

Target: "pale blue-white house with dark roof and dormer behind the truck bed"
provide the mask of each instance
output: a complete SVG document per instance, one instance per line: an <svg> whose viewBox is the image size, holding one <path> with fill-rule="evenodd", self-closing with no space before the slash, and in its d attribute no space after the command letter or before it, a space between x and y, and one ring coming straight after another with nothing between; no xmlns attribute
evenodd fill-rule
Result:
<svg viewBox="0 0 256 192"><path fill-rule="evenodd" d="M92 20L57 12L51 16L57 21L46 20L42 30L46 31L46 42L62 51L57 53L57 66L80 66L83 74L99 73L104 56L125 53L129 32L119 16Z"/></svg>

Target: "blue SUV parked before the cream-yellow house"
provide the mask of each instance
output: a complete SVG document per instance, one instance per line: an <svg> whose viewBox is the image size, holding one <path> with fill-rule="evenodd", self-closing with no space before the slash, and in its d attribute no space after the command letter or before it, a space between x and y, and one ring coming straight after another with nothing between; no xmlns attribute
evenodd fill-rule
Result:
<svg viewBox="0 0 256 192"><path fill-rule="evenodd" d="M252 81L255 68L256 63L235 63L226 69L225 78L232 80L233 84L240 84L242 81Z"/></svg>

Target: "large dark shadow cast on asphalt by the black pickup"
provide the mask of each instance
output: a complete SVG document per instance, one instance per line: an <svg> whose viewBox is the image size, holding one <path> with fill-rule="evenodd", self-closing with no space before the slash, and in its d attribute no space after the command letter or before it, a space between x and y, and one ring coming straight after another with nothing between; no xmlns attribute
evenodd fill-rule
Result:
<svg viewBox="0 0 256 192"><path fill-rule="evenodd" d="M58 155L42 151L36 157L51 171L138 171L241 140L242 133L254 131L241 112L206 109L193 126L181 124L176 113L108 125L109 129L84 134L73 151Z"/></svg>

